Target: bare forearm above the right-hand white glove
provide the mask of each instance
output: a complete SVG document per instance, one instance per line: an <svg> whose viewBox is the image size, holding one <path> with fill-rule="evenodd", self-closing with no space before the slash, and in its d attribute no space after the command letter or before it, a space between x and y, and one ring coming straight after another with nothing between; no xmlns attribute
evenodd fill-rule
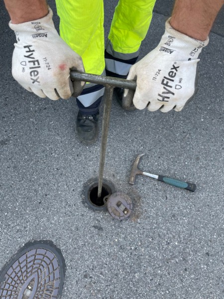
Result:
<svg viewBox="0 0 224 299"><path fill-rule="evenodd" d="M206 40L224 0L176 0L170 24L177 31Z"/></svg>

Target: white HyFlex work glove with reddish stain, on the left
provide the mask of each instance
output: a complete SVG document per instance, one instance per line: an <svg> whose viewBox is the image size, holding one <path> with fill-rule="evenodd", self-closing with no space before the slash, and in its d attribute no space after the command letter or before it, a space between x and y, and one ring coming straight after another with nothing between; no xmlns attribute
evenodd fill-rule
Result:
<svg viewBox="0 0 224 299"><path fill-rule="evenodd" d="M48 7L49 8L49 7ZM78 96L85 83L72 82L70 70L84 72L82 58L58 35L52 10L37 20L9 27L17 43L12 56L12 76L20 85L41 98L51 100Z"/></svg>

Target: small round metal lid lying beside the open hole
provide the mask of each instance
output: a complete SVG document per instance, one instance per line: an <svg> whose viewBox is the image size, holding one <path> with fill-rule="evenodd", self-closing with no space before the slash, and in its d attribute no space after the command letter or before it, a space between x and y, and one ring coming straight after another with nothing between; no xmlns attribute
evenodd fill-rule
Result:
<svg viewBox="0 0 224 299"><path fill-rule="evenodd" d="M124 192L115 192L108 198L107 207L113 218L123 220L130 216L132 201Z"/></svg>

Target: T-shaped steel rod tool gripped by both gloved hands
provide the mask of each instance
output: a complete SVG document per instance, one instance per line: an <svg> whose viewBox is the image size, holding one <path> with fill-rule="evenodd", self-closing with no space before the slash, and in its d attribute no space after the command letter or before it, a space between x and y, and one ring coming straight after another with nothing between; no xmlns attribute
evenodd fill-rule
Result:
<svg viewBox="0 0 224 299"><path fill-rule="evenodd" d="M107 77L99 76L99 75L82 73L77 71L71 71L70 78L72 80L101 84L104 85L106 88L105 95L104 95L104 116L103 116L103 125L102 125L100 169L99 169L99 182L98 182L98 198L100 198L102 193L104 164L105 164L105 156L106 156L107 141L108 141L109 122L111 116L113 88L120 87L120 88L135 90L136 82L131 80L126 80L126 79L119 79L119 78L114 78L109 76Z"/></svg>

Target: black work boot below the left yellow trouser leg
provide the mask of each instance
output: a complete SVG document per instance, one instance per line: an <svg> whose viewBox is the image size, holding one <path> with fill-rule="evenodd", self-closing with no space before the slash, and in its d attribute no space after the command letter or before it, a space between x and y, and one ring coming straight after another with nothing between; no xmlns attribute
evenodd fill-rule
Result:
<svg viewBox="0 0 224 299"><path fill-rule="evenodd" d="M81 142L91 145L98 138L98 116L99 110L93 115L82 114L78 112L76 119L76 131Z"/></svg>

